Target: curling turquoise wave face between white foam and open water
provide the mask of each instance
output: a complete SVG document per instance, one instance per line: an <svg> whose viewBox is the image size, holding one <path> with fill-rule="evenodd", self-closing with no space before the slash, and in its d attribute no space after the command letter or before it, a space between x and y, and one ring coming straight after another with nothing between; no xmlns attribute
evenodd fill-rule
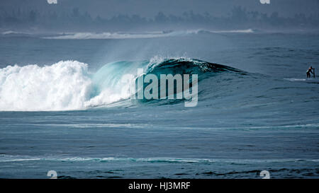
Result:
<svg viewBox="0 0 319 193"><path fill-rule="evenodd" d="M230 66L225 66L221 64L213 64L210 62L204 62L198 59L185 59L185 58L170 58L170 59L151 59L149 61L141 61L141 62L112 62L103 66L99 71L97 71L92 76L92 81L94 83L94 93L92 98L101 98L101 96L107 98L111 96L111 98L117 97L119 100L127 100L127 99L136 99L138 98L138 103L160 103L160 104L175 104L180 103L185 100L185 98L178 98L177 95L182 95L183 88L185 88L185 83L181 90L177 89L177 82L173 83L173 92L171 95L174 95L169 99L168 95L168 83L163 86L162 84L158 84L157 97L145 99L140 98L138 95L139 90L147 88L154 81L143 82L142 86L138 83L138 79L142 78L145 80L146 76L155 75L157 77L156 82L159 83L161 79L161 75L181 75L181 78L185 78L184 75L189 75L189 84L188 88L193 87L193 75L196 75L196 82L201 82L206 78L213 78L214 76L225 76L225 74L240 74L245 75L244 71L240 69L235 69ZM128 76L130 75L130 76ZM124 76L128 76L128 81L122 81ZM154 76L153 76L154 77ZM213 80L211 80L213 81ZM164 87L164 88L163 88ZM199 92L203 90L210 90L209 87L201 87ZM109 90L106 92L106 90ZM133 90L133 91L132 91ZM154 92L154 89L152 89ZM163 101L161 98L161 93L167 93L167 100ZM107 94L103 94L107 93ZM143 93L143 92L142 92ZM166 95L166 94L165 94ZM102 99L100 99L102 100ZM113 101L117 102L117 101ZM133 103L137 104L137 103ZM103 104L100 104L103 105ZM96 103L96 105L99 104Z"/></svg>

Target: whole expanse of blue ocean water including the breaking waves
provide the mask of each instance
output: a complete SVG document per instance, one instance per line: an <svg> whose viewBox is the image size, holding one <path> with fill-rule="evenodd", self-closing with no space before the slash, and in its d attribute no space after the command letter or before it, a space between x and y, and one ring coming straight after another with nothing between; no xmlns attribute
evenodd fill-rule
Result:
<svg viewBox="0 0 319 193"><path fill-rule="evenodd" d="M0 178L318 178L318 37L2 33ZM198 104L130 98L138 68L198 74Z"/></svg>

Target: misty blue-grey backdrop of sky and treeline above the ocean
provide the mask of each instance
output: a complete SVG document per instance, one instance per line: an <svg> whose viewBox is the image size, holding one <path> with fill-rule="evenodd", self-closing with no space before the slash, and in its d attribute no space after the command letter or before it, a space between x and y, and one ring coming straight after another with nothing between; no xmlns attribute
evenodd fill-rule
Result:
<svg viewBox="0 0 319 193"><path fill-rule="evenodd" d="M49 4L50 3L50 4ZM1 0L0 30L298 30L319 26L319 0Z"/></svg>

